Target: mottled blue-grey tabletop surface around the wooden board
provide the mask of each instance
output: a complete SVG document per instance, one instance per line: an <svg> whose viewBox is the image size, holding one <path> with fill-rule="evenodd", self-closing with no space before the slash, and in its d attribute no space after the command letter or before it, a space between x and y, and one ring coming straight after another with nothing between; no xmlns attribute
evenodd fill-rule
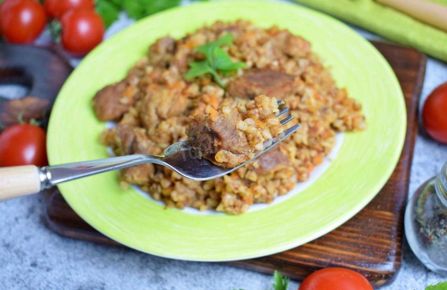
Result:
<svg viewBox="0 0 447 290"><path fill-rule="evenodd" d="M128 23L121 19L107 34ZM367 38L378 38L356 30ZM429 59L421 105L445 81L447 65ZM410 194L434 176L446 160L447 145L420 133L411 170ZM272 284L270 275L228 265L169 260L127 248L61 237L46 228L43 210L40 195L0 203L0 289L266 290ZM380 289L419 290L445 280L447 277L426 269L405 242L396 281ZM289 289L296 289L298 285L291 282Z"/></svg>

